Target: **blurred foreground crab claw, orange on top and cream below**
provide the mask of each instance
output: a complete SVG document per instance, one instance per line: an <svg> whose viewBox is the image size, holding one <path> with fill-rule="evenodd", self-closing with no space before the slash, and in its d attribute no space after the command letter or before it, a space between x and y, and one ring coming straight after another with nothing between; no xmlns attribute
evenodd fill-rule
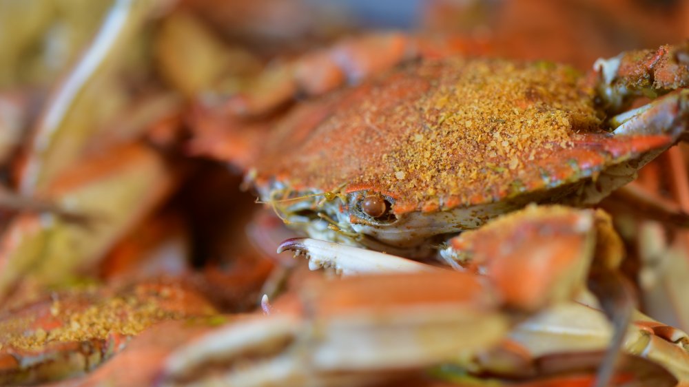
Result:
<svg viewBox="0 0 689 387"><path fill-rule="evenodd" d="M362 386L471 356L508 329L491 286L469 273L315 280L299 301L179 348L161 385ZM208 373L209 362L225 371Z"/></svg>

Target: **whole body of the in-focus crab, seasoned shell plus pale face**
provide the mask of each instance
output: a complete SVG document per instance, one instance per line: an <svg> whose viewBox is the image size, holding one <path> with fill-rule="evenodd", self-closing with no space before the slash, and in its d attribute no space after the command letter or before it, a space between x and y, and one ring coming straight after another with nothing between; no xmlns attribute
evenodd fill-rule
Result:
<svg viewBox="0 0 689 387"><path fill-rule="evenodd" d="M601 73L619 62L599 64ZM433 236L528 202L597 202L688 125L680 90L619 116L610 133L595 86L544 62L407 63L296 107L248 179L313 238L422 253ZM383 216L362 208L371 197L385 203Z"/></svg>

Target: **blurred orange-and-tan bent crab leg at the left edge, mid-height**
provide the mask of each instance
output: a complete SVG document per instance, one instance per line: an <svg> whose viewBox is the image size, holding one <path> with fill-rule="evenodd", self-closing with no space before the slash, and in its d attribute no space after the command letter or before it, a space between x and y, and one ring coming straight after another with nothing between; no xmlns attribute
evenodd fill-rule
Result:
<svg viewBox="0 0 689 387"><path fill-rule="evenodd" d="M52 213L14 218L0 239L0 299L19 280L59 284L99 262L172 191L178 176L155 151L136 143L85 158L46 189L44 200L86 214L94 221L85 225L92 227ZM118 211L118 206L129 210ZM64 246L70 246L70 253L63 253Z"/></svg>

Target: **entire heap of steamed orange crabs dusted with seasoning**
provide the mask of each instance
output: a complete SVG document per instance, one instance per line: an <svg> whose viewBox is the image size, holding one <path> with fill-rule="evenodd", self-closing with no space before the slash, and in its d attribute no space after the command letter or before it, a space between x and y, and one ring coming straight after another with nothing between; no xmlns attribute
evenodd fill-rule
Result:
<svg viewBox="0 0 689 387"><path fill-rule="evenodd" d="M265 64L189 3L93 6L56 84L0 92L0 384L689 385L689 40Z"/></svg>

